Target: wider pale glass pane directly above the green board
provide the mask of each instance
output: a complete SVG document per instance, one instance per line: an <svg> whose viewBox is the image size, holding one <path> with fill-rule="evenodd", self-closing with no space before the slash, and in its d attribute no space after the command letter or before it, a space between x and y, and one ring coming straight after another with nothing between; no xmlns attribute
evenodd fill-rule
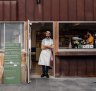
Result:
<svg viewBox="0 0 96 91"><path fill-rule="evenodd" d="M6 23L5 24L5 42L21 43L24 48L24 24Z"/></svg>

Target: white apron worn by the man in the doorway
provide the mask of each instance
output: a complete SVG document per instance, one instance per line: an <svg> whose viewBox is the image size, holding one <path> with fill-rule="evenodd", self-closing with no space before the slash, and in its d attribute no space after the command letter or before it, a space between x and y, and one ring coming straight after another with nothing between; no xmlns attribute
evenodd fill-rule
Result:
<svg viewBox="0 0 96 91"><path fill-rule="evenodd" d="M45 45L52 45L52 44L53 44L52 41L45 41ZM52 52L50 49L42 50L39 57L38 65L50 66L51 56L52 56Z"/></svg>

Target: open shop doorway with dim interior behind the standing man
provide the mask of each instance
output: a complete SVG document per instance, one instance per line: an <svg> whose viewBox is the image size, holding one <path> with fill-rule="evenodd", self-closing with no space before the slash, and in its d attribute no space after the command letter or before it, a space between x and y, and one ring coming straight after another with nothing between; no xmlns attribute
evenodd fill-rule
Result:
<svg viewBox="0 0 96 91"><path fill-rule="evenodd" d="M45 38L45 31L51 32L53 39L53 22L30 22L31 30L31 57L30 57L30 78L39 78L41 76L41 66L38 65L38 60L41 52L41 41ZM54 55L53 55L54 56ZM51 61L49 69L50 77L54 76L54 61Z"/></svg>

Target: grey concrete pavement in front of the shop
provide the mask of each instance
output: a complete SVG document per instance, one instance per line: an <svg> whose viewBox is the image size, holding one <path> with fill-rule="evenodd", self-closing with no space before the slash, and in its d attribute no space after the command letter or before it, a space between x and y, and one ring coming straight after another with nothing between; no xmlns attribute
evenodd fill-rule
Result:
<svg viewBox="0 0 96 91"><path fill-rule="evenodd" d="M0 91L96 91L96 78L34 78L30 84L1 84Z"/></svg>

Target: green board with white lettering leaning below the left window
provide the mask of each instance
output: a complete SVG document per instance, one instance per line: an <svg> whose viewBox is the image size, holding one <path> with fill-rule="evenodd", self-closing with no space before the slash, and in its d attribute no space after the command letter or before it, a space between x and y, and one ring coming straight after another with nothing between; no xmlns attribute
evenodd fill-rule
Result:
<svg viewBox="0 0 96 91"><path fill-rule="evenodd" d="M21 43L5 43L4 83L20 83Z"/></svg>

